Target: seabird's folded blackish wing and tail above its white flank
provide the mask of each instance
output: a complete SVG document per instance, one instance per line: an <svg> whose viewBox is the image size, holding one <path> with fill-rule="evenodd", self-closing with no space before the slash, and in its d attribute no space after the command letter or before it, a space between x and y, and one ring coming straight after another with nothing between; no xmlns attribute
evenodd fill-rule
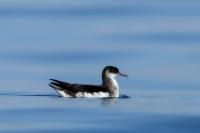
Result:
<svg viewBox="0 0 200 133"><path fill-rule="evenodd" d="M106 89L103 86L95 86L95 85L82 85L82 84L70 84L67 82L50 79L52 82L49 84L49 86L63 90L66 93L68 93L71 96L75 96L78 92L87 92L87 93L93 93L93 92L109 92L108 89Z"/></svg>

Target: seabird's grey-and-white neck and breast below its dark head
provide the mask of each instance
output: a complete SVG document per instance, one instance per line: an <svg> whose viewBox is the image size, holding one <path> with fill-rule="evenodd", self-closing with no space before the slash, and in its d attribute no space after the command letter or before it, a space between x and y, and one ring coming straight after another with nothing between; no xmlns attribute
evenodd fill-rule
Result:
<svg viewBox="0 0 200 133"><path fill-rule="evenodd" d="M111 97L119 97L119 85L113 76L103 78L103 86L109 89Z"/></svg>

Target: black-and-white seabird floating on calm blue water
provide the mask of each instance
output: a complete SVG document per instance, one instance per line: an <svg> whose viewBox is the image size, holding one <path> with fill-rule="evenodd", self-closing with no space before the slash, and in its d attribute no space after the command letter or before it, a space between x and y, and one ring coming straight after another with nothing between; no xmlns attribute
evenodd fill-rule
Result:
<svg viewBox="0 0 200 133"><path fill-rule="evenodd" d="M101 85L73 84L50 79L49 86L53 87L62 97L114 98L119 97L117 76L128 77L126 74L122 74L117 67L106 66L102 72Z"/></svg>

